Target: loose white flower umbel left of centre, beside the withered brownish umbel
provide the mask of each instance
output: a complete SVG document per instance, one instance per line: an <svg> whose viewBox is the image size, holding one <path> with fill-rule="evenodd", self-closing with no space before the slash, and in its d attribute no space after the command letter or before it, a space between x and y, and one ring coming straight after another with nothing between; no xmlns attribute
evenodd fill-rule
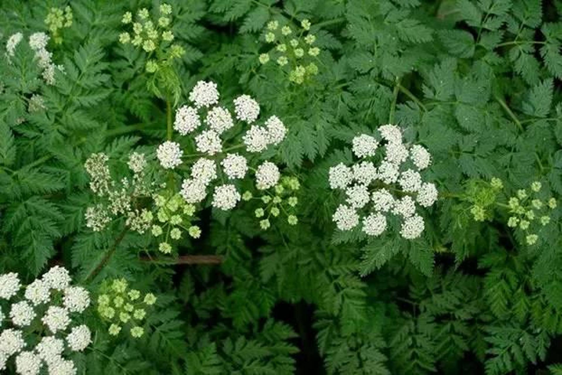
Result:
<svg viewBox="0 0 562 375"><path fill-rule="evenodd" d="M191 166L191 176L182 182L180 194L188 203L194 204L205 200L207 188L224 175L228 180L243 179L248 172L248 161L239 153L223 150L221 135L234 126L233 115L228 109L219 106L219 92L212 82L197 82L189 93L193 105L185 105L176 110L174 129L181 135L200 130L192 135L198 152L205 154ZM200 115L200 112L204 112ZM260 115L260 105L248 95L241 95L234 100L235 119L254 123ZM203 120L202 120L203 119ZM207 126L201 129L202 124ZM285 138L287 128L277 116L271 116L264 125L252 125L242 139L247 151L264 151L270 144L279 144ZM172 146L173 145L173 146ZM241 145L242 147L244 145ZM161 150L164 148L164 150ZM234 148L238 148L235 146ZM167 141L158 147L157 157L164 168L175 168L181 163L182 151L179 144ZM209 157L207 157L209 156ZM266 161L256 170L256 187L268 189L279 182L279 169L272 162ZM212 206L221 210L232 210L241 200L241 195L233 183L216 186L212 193Z"/></svg>

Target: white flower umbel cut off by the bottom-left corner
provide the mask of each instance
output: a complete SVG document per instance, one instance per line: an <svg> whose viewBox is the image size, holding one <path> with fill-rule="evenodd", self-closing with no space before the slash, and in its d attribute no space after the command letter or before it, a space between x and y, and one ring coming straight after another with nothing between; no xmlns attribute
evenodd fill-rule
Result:
<svg viewBox="0 0 562 375"><path fill-rule="evenodd" d="M65 342L70 351L83 351L92 342L92 334L84 324L71 327L67 332L72 323L71 314L87 309L90 296L84 288L71 286L70 281L65 268L54 266L25 287L23 300L11 304L8 317L13 328L6 328L6 323L0 324L3 328L0 331L0 370L6 369L11 356L16 356L18 374L37 375L43 364L49 375L76 374L74 363L62 355ZM8 304L21 288L16 273L0 275L0 299L7 300ZM62 304L57 305L56 301L62 301ZM42 317L40 311L44 311ZM0 318L6 321L1 312ZM38 324L33 324L35 319L44 324L44 328L37 332ZM47 336L40 337L38 344L31 348L25 340L24 330L26 334L44 333Z"/></svg>

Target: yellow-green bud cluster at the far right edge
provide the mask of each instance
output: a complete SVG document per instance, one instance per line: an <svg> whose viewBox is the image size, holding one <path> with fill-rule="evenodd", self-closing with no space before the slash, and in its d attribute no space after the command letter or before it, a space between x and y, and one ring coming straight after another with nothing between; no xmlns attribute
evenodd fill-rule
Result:
<svg viewBox="0 0 562 375"><path fill-rule="evenodd" d="M549 198L541 200L538 198L538 192L541 191L542 185L535 181L531 183L529 191L519 189L516 194L509 198L507 206L509 207L509 219L507 226L510 228L519 228L525 233L525 241L527 245L534 245L538 236L531 232L533 222L545 226L550 223L549 211L556 208L556 199Z"/></svg>

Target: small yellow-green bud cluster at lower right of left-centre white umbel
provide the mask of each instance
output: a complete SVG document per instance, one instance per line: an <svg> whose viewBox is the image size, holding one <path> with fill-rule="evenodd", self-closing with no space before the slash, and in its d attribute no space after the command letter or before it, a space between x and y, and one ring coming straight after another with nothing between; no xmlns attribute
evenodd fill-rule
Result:
<svg viewBox="0 0 562 375"><path fill-rule="evenodd" d="M283 177L280 183L266 191L260 197L253 197L250 191L244 192L244 201L256 200L260 202L254 214L260 220L261 229L268 229L271 226L270 219L282 215L287 219L287 223L295 225L298 223L297 216L294 214L298 204L296 192L301 185L296 177Z"/></svg>

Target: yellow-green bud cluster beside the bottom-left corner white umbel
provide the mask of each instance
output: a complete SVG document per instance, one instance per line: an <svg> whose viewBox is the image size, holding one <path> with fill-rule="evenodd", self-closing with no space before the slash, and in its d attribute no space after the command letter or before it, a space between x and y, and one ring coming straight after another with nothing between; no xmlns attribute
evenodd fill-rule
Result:
<svg viewBox="0 0 562 375"><path fill-rule="evenodd" d="M154 305L156 296L130 289L124 278L114 279L102 284L97 300L99 316L110 326L108 332L117 336L123 328L129 329L130 335L139 338L144 334L142 322L146 318L147 309Z"/></svg>

